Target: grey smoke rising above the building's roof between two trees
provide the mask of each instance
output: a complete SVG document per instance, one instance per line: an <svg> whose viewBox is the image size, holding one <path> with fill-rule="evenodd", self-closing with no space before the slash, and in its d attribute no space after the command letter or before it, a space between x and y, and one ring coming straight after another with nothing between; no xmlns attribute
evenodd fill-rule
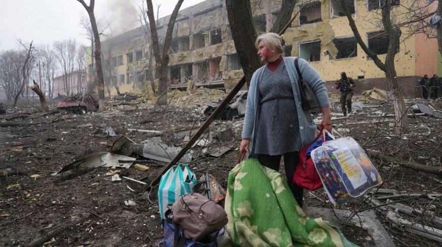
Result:
<svg viewBox="0 0 442 247"><path fill-rule="evenodd" d="M110 24L112 29L112 36L119 35L123 32L132 30L139 26L138 9L133 4L133 1L108 0L103 1L103 6L100 6L99 11L99 27L103 29L107 24ZM106 33L110 33L106 31Z"/></svg>

